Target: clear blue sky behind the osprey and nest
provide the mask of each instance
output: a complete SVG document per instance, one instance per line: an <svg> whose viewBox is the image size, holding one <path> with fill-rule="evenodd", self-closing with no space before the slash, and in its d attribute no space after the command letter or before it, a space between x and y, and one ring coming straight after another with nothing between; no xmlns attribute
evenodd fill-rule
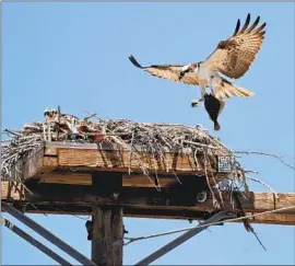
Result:
<svg viewBox="0 0 295 266"><path fill-rule="evenodd" d="M42 120L46 107L60 105L62 112L81 117L87 109L102 117L201 124L231 149L276 152L294 161L294 3L5 2L2 7L2 127ZM199 88L153 78L128 60L130 54L142 65L202 60L248 12L268 23L257 60L236 81L256 95L227 101L219 132L202 107L190 107ZM255 177L275 190L294 192L294 172L275 159L252 155L241 163L259 171ZM31 217L90 256L85 220ZM191 225L128 218L125 223L129 236ZM241 224L226 224L202 232L155 264L295 263L294 227L255 229L268 252ZM123 263L137 263L175 236L128 245ZM55 264L7 229L2 244L4 265Z"/></svg>

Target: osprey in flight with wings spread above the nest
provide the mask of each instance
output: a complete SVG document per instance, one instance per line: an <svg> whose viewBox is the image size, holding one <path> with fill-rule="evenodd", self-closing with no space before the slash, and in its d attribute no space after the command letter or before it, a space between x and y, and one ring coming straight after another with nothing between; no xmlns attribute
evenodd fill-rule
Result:
<svg viewBox="0 0 295 266"><path fill-rule="evenodd" d="M199 102L204 100L206 88L211 88L212 95L221 101L232 96L252 96L253 92L233 84L221 77L219 72L228 78L238 79L248 71L264 39L266 31L263 28L267 23L257 27L259 21L260 16L249 26L250 14L248 14L244 26L240 28L240 21L238 20L234 34L226 41L221 41L215 50L204 61L188 65L142 67L133 56L130 56L129 59L135 67L157 78L200 85L202 97L193 101L192 106L197 106Z"/></svg>

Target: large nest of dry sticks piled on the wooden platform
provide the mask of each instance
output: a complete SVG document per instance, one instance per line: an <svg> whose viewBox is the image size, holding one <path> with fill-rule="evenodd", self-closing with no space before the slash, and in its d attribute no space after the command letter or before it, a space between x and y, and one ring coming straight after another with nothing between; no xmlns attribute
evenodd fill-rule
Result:
<svg viewBox="0 0 295 266"><path fill-rule="evenodd" d="M127 119L80 120L72 115L46 116L44 123L26 124L19 131L4 130L9 139L1 143L1 180L22 182L20 166L34 149L44 141L66 141L79 143L110 143L114 147L128 150L137 157L141 151L152 152L165 161L165 152L203 153L210 162L210 155L233 155L233 153L216 138L210 136L200 126L181 124L150 124ZM138 157L140 161L140 157ZM197 159L197 158L196 158ZM198 163L198 162L196 162ZM143 165L143 164L142 164ZM142 166L142 172L149 177L149 171ZM234 162L231 181L243 181L243 170ZM150 178L151 180L151 178ZM224 182L223 182L224 185Z"/></svg>

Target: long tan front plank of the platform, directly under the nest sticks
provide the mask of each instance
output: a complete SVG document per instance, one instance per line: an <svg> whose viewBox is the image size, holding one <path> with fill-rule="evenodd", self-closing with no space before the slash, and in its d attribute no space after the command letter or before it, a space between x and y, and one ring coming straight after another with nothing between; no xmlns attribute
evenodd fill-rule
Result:
<svg viewBox="0 0 295 266"><path fill-rule="evenodd" d="M152 154L140 153L140 160L133 154L131 160L127 151L97 151L83 149L59 149L58 165L59 166L87 166L87 167L109 167L115 170L142 171L146 167L149 171L160 171L161 173L172 172L194 172L196 174L204 174L204 163L199 158L199 165L196 165L191 154L173 154L166 153L166 160L157 158L155 160ZM216 160L216 159L215 159ZM141 164L142 163L142 164ZM214 162L216 164L216 162ZM208 169L211 172L212 169ZM213 172L215 169L213 169Z"/></svg>

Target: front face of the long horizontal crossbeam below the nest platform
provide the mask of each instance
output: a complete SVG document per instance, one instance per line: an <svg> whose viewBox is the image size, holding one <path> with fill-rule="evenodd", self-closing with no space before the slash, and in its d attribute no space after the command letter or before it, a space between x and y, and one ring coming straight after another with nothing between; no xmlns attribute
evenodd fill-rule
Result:
<svg viewBox="0 0 295 266"><path fill-rule="evenodd" d="M98 204L98 205L128 205L128 206L140 206L142 208L146 207L166 207L173 209L194 209L199 211L203 210L214 210L212 198L208 198L204 203L197 203L197 199L193 201L188 201L185 205L186 198L184 195L174 195L169 194L166 190L156 192L155 188L132 188L123 187L121 188L120 195L117 199L113 198L113 195L107 197L102 197L93 192L91 187L83 186L71 186L71 185L55 185L55 184L35 184L35 186L30 186L30 189L34 193L25 193L21 196L17 192L24 190L19 185L10 187L9 182L1 183L1 199L3 201L9 198L14 201L23 200L31 201L34 204L37 203L64 203L64 204ZM12 192L10 194L5 194ZM233 209L231 204L231 193L223 192L224 208ZM179 201L181 200L181 201ZM247 198L240 197L243 209L247 212L262 212L271 209L280 209L283 207L291 207L295 205L295 194L294 193L279 193L278 200L275 201L274 195L272 193L249 193ZM290 210L287 212L294 213L295 210Z"/></svg>

